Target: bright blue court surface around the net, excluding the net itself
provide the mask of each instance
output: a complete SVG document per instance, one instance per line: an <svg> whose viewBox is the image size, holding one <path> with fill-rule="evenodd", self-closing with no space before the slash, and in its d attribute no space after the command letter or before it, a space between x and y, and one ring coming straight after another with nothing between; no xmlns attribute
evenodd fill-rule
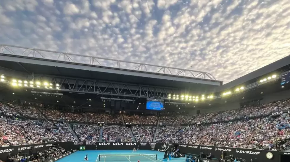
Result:
<svg viewBox="0 0 290 162"><path fill-rule="evenodd" d="M152 151L152 150L139 150L137 153L132 153L133 150L86 150L86 151L77 151L75 153L72 153L70 156L66 156L60 160L57 160L57 162L98 162L99 161L99 154L108 154L108 155L140 155L140 162L166 162L166 160L163 160L164 153L159 151ZM88 154L88 161L84 160L84 157ZM157 160L152 160L149 158L144 158L143 155L146 154L157 154ZM119 158L123 159L123 158ZM107 162L111 162L107 161ZM136 158L134 160L118 160L118 157L116 156L116 162L137 162ZM184 162L185 158L171 158L171 161L174 162ZM102 161L104 162L104 160Z"/></svg>

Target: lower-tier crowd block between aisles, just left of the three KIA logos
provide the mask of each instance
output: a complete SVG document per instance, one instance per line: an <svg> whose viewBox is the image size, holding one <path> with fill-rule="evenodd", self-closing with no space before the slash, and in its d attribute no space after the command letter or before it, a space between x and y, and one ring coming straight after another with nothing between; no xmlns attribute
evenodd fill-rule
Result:
<svg viewBox="0 0 290 162"><path fill-rule="evenodd" d="M80 141L99 141L100 126L98 125L72 125Z"/></svg>

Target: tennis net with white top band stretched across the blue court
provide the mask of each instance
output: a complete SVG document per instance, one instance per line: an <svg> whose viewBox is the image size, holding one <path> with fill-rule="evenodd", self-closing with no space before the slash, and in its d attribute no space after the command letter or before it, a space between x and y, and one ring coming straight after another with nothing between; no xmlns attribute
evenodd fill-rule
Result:
<svg viewBox="0 0 290 162"><path fill-rule="evenodd" d="M151 161L157 154L99 154L99 161Z"/></svg>

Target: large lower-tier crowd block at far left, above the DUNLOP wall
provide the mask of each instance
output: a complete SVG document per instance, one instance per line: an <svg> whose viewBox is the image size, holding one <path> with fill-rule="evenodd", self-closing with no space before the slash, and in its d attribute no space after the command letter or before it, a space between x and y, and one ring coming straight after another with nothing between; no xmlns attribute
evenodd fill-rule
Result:
<svg viewBox="0 0 290 162"><path fill-rule="evenodd" d="M54 141L74 141L66 124L31 120L0 120L0 145L27 145Z"/></svg>

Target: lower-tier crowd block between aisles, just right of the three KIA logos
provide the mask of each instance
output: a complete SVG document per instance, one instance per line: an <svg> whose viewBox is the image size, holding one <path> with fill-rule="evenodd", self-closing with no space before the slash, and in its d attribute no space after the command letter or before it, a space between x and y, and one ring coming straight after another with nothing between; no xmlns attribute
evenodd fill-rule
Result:
<svg viewBox="0 0 290 162"><path fill-rule="evenodd" d="M132 127L136 142L152 142L156 127Z"/></svg>

